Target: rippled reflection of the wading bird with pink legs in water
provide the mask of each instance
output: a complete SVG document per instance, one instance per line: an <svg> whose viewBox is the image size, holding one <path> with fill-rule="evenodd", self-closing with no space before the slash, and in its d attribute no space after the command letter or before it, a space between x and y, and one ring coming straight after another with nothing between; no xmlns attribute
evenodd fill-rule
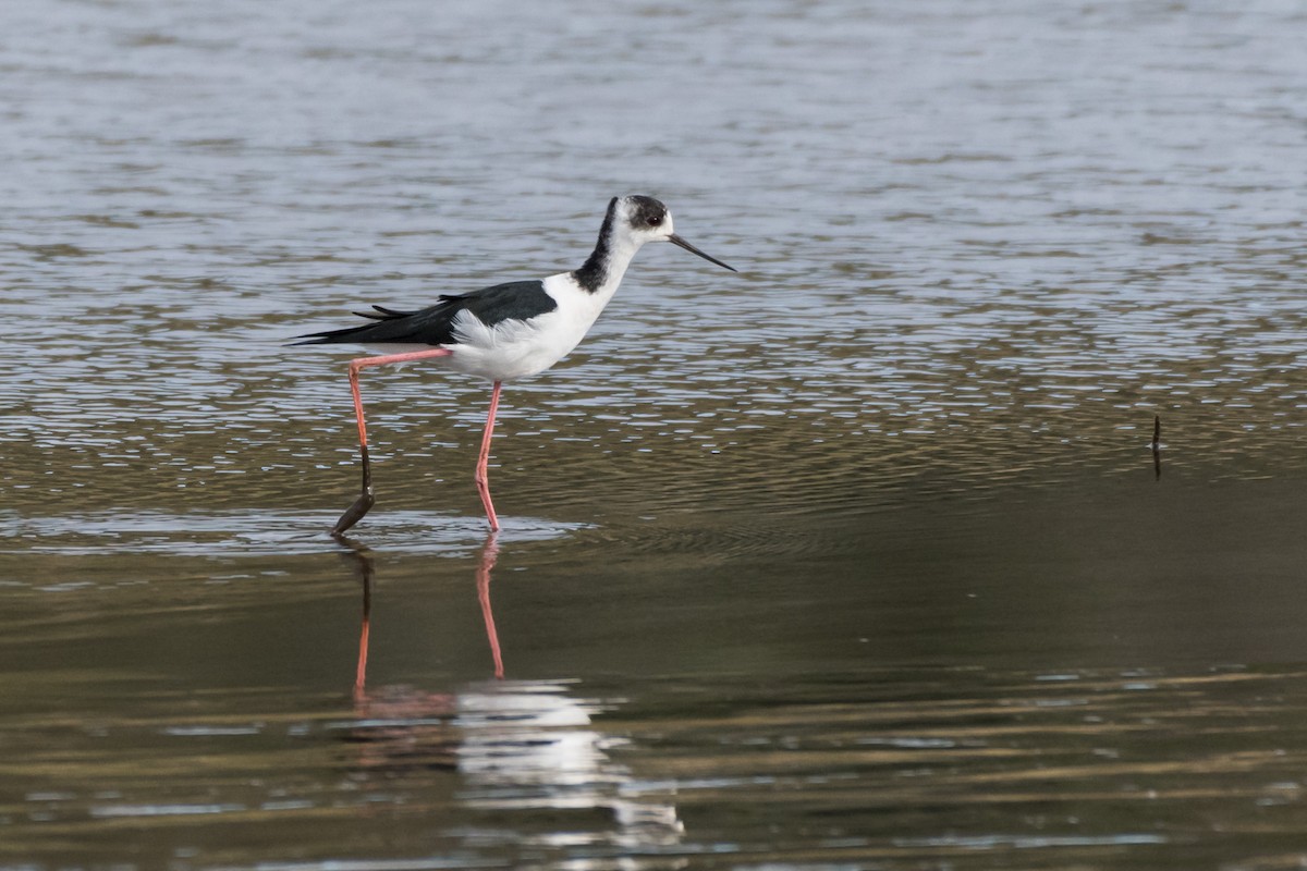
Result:
<svg viewBox="0 0 1307 871"><path fill-rule="evenodd" d="M591 847L617 851L665 849L685 833L676 806L663 790L642 787L610 751L622 738L593 727L603 710L596 700L572 695L575 680L506 680L490 605L490 575L499 556L494 533L477 559L476 586L485 620L495 680L433 693L406 686L369 689L367 646L371 632L371 551L350 539L346 558L363 588L363 616L354 673L354 721L345 740L356 748L350 768L357 780L403 778L421 786L433 772L456 772L460 802L489 811L579 811L569 837L596 825L593 811L610 824L586 838ZM393 784L395 780L391 780ZM524 828L529 817L523 817ZM584 821L582 821L584 820ZM531 825L537 828L537 825Z"/></svg>

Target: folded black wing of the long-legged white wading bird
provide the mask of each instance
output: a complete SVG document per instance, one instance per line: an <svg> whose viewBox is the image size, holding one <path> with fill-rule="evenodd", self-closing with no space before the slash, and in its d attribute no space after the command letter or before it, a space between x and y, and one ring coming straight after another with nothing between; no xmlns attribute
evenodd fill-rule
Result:
<svg viewBox="0 0 1307 871"><path fill-rule="evenodd" d="M352 342L361 345L454 345L454 319L468 312L486 326L506 320L531 320L558 308L554 298L545 291L541 281L514 281L474 290L471 294L442 295L440 302L414 312L400 312L384 306L372 306L371 312L354 312L371 324L329 329L323 333L299 336L294 345L331 345Z"/></svg>

